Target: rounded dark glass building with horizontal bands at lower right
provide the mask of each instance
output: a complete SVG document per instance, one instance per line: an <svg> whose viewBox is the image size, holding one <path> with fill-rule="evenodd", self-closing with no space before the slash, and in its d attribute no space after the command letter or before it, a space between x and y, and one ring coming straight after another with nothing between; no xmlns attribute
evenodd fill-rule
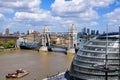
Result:
<svg viewBox="0 0 120 80"><path fill-rule="evenodd" d="M107 37L106 37L107 36ZM120 80L119 35L108 33L85 43L73 59L72 80Z"/></svg>

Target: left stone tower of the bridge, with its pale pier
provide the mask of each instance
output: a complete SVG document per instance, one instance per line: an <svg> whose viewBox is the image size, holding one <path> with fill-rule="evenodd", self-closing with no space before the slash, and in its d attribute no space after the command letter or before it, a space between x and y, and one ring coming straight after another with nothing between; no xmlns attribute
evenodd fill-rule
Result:
<svg viewBox="0 0 120 80"><path fill-rule="evenodd" d="M50 29L45 25L42 30L42 47L40 51L48 51L48 46L50 45Z"/></svg>

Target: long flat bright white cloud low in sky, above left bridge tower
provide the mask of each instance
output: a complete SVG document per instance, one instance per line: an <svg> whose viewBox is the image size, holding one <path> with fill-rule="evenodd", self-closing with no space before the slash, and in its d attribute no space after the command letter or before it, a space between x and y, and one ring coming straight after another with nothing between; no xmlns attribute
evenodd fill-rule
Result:
<svg viewBox="0 0 120 80"><path fill-rule="evenodd" d="M40 10L39 12L16 12L14 20L30 20L30 21L59 21L60 17L54 17L49 11Z"/></svg>

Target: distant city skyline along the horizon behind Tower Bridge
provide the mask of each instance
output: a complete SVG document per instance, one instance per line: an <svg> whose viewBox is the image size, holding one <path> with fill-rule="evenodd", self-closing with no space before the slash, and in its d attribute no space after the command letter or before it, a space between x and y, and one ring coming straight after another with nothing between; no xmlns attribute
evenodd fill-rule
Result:
<svg viewBox="0 0 120 80"><path fill-rule="evenodd" d="M45 27L43 27L44 29ZM49 28L48 28L49 29ZM78 34L82 34L82 35L99 35L99 34L104 34L105 32L103 33L99 33L99 30L95 30L95 29L90 29L90 28L82 28L81 31L78 31L77 28L76 28L76 31ZM6 28L5 31L3 31L3 33L0 32L0 35L20 35L20 34L31 34L31 33L34 33L34 32L38 32L38 33L42 33L43 30L40 32L40 31L36 31L34 29L28 29L26 32L20 32L20 31L15 31L15 32L11 32L9 28ZM50 29L49 29L49 33L50 34L68 34L69 32L69 29L68 31L66 32L51 32Z"/></svg>

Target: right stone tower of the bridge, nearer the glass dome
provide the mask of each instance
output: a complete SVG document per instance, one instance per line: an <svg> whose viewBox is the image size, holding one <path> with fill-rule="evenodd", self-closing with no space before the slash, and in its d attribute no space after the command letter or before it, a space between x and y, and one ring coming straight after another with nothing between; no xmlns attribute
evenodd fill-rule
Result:
<svg viewBox="0 0 120 80"><path fill-rule="evenodd" d="M77 47L77 28L74 24L68 29L68 50L67 53L75 53L75 48Z"/></svg>

